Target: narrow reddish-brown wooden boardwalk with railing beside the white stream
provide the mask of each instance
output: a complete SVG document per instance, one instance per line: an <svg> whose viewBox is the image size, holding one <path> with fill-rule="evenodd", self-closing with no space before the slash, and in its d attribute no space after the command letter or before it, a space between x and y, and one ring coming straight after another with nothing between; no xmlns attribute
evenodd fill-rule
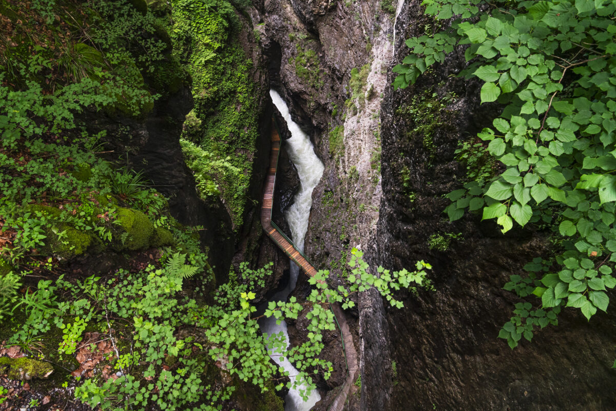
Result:
<svg viewBox="0 0 616 411"><path fill-rule="evenodd" d="M299 266L299 268L310 275L310 277L317 274L317 269L312 266L310 262L301 251L291 242L286 235L275 226L272 222L272 207L274 206L274 187L276 185L276 169L278 168L278 154L280 153L280 134L274 120L272 120L272 152L270 153L270 163L267 169L267 176L265 177L265 189L263 192L263 203L261 207L261 226L265 230L265 233L269 238L276 243L285 254L291 258L291 260ZM342 385L341 391L338 393L330 405L328 411L342 411L346 404L346 399L355 383L355 375L359 371L359 364L357 362L357 352L353 343L353 336L349 330L344 312L339 304L330 304L331 311L334 313L336 322L340 329L342 338L342 350L347 364L347 377Z"/></svg>

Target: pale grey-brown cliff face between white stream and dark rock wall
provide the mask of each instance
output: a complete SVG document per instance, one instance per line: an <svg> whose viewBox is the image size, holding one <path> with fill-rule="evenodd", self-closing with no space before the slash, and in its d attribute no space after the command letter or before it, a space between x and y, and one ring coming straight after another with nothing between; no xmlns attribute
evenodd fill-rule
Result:
<svg viewBox="0 0 616 411"><path fill-rule="evenodd" d="M346 274L351 247L366 251L369 259L376 256L381 201L379 113L392 59L394 23L393 6L386 12L382 4L270 0L257 6L253 15L253 22L263 23L257 28L270 58L270 83L290 105L294 120L310 134L326 166L313 193L306 252L317 267L331 270L333 285ZM300 276L295 295L301 299L307 293L306 279ZM382 335L379 324L371 331L370 317L375 312L384 317L378 296L363 296L359 303L347 319L357 330L358 351L364 348L360 324L367 332ZM292 343L306 338L304 318L290 325ZM317 376L323 397L317 409L326 409L335 394L328 390L345 378L339 336L325 336L325 343L323 357L337 371L328 381ZM370 357L391 363L385 346L370 344L365 346ZM349 397L347 409L365 409L360 407L359 387Z"/></svg>

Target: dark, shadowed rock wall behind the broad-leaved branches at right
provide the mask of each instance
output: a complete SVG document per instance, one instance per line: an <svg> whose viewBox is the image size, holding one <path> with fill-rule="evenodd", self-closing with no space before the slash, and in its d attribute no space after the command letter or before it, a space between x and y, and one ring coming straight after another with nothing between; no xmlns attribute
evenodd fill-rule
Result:
<svg viewBox="0 0 616 411"><path fill-rule="evenodd" d="M418 1L405 4L398 61L408 52L402 39L423 35L431 24ZM455 161L458 140L475 135L494 115L490 107L479 108L478 84L449 76L463 66L463 53L454 52L415 86L389 86L384 95L379 262L399 269L426 259L434 266L429 277L435 291L400 294L405 309L373 317L389 331L395 372L391 367L387 378L362 374L366 390L383 393L364 409L613 409L614 315L599 314L589 324L565 310L558 327L514 351L497 338L519 301L501 287L509 275L522 273L525 262L549 251L548 233L529 227L502 235L479 216L450 223L441 214L448 204L442 195L460 187L466 174ZM424 110L428 101L439 107L431 116ZM433 235L450 238L447 250L430 249ZM381 335L371 336L383 343Z"/></svg>

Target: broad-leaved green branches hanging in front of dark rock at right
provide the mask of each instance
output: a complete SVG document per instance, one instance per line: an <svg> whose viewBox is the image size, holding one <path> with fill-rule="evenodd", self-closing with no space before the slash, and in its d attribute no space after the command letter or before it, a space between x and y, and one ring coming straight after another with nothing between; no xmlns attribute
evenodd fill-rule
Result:
<svg viewBox="0 0 616 411"><path fill-rule="evenodd" d="M608 0L429 0L426 14L452 23L407 40L394 87L407 87L464 47L482 104L501 108L479 137L503 172L448 194L454 221L465 210L496 219L503 233L545 224L561 237L553 256L535 259L507 290L533 294L499 336L514 348L536 328L557 324L561 307L590 320L606 311L616 261L616 2Z"/></svg>

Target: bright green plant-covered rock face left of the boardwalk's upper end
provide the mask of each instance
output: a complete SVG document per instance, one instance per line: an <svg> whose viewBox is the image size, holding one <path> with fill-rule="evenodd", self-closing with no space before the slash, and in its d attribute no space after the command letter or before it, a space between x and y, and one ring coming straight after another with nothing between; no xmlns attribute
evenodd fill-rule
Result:
<svg viewBox="0 0 616 411"><path fill-rule="evenodd" d="M219 195L238 230L253 172L261 92L237 36L245 23L225 0L174 0L171 10L174 54L192 76L195 99L182 148L201 197Z"/></svg>

